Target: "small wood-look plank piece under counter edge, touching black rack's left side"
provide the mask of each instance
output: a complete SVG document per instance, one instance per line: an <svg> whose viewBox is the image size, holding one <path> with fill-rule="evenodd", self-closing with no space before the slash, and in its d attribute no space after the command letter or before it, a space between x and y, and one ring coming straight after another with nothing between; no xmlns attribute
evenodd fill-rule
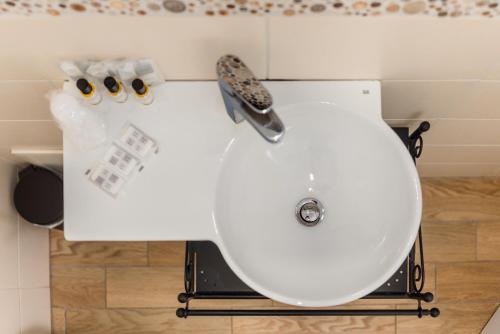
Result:
<svg viewBox="0 0 500 334"><path fill-rule="evenodd" d="M151 241L148 246L150 265L184 266L186 242Z"/></svg>

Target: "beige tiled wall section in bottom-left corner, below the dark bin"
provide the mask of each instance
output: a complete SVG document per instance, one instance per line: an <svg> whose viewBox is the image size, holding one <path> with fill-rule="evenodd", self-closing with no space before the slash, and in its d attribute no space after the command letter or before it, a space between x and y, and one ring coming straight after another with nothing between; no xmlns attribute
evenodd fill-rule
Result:
<svg viewBox="0 0 500 334"><path fill-rule="evenodd" d="M17 169L0 160L0 333L50 333L48 231L12 204Z"/></svg>

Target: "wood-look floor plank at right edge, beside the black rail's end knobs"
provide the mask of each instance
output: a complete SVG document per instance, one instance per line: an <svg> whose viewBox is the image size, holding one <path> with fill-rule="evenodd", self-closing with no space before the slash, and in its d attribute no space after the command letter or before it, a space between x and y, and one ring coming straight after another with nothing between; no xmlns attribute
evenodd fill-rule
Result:
<svg viewBox="0 0 500 334"><path fill-rule="evenodd" d="M443 263L436 269L440 302L500 301L500 262Z"/></svg>

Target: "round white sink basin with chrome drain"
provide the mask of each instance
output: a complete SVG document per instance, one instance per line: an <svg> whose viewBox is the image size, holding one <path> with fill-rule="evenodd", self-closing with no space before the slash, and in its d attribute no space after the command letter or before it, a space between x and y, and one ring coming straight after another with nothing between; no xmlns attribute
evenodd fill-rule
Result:
<svg viewBox="0 0 500 334"><path fill-rule="evenodd" d="M382 119L324 103L275 110L282 142L240 125L223 156L215 241L238 277L271 299L333 306L363 297L395 273L418 232L408 150ZM324 211L313 203L297 217L308 198Z"/></svg>

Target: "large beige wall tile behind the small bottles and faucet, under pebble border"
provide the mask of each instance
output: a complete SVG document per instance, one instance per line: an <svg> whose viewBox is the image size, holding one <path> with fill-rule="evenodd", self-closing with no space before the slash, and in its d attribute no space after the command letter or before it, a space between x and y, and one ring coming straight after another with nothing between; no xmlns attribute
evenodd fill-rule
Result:
<svg viewBox="0 0 500 334"><path fill-rule="evenodd" d="M2 38L0 80L63 79L59 62L83 57L151 57L168 80L214 79L226 53L266 76L264 18L18 17L0 31L16 32Z"/></svg>

